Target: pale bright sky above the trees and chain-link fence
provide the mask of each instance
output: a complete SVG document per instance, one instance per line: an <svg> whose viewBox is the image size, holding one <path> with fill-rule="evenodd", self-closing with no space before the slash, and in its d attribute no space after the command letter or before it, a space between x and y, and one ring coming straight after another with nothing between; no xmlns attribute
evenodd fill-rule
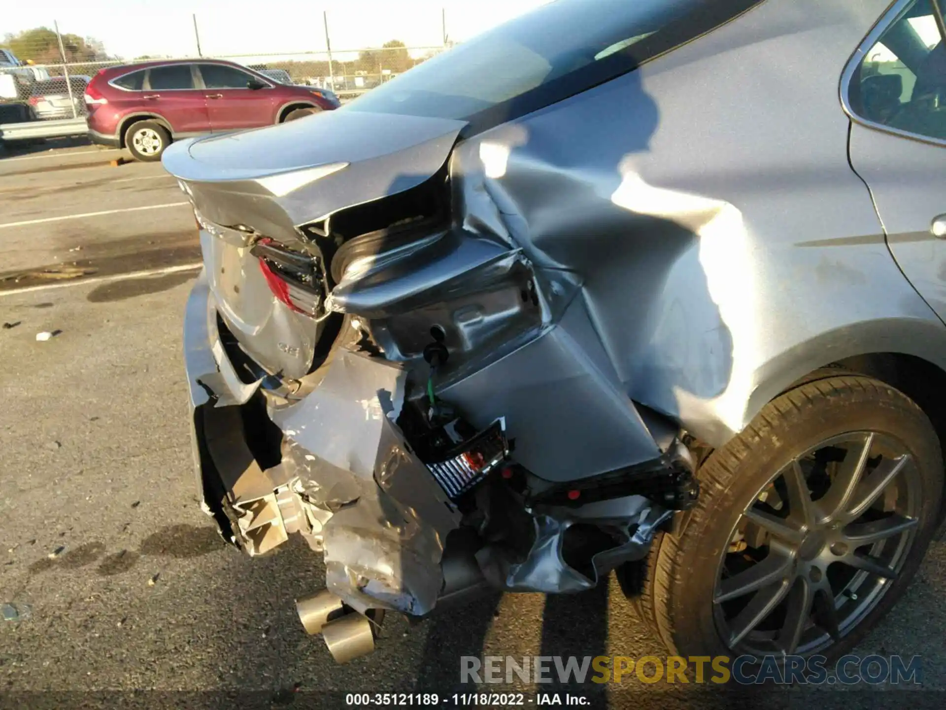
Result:
<svg viewBox="0 0 946 710"><path fill-rule="evenodd" d="M196 54L191 14L197 15L204 56L295 54L325 49L323 10L332 51L380 46L440 45L441 9L448 39L457 42L548 0L44 0L5 2L0 38L31 27L95 37L124 59L144 54ZM422 52L416 52L419 55ZM22 59L22 58L21 58ZM340 57L340 59L347 59Z"/></svg>

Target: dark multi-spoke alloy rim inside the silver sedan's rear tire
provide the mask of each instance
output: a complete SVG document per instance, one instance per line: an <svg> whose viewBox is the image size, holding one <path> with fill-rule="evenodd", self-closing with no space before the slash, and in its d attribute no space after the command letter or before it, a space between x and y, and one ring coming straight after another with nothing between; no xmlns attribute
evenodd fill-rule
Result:
<svg viewBox="0 0 946 710"><path fill-rule="evenodd" d="M756 656L830 648L898 576L919 516L919 472L893 437L855 432L800 454L729 537L713 598L723 640Z"/></svg>

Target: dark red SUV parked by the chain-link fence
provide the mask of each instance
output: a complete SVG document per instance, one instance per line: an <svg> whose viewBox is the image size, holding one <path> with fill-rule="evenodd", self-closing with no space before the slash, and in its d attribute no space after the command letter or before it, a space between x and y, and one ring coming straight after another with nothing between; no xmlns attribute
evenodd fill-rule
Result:
<svg viewBox="0 0 946 710"><path fill-rule="evenodd" d="M160 160L172 140L270 126L339 107L330 91L288 86L234 62L184 60L102 69L85 90L89 137Z"/></svg>

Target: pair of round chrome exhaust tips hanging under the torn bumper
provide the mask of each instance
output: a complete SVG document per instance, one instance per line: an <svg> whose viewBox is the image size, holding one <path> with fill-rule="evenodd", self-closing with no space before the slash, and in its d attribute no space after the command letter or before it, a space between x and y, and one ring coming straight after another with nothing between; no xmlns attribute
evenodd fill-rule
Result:
<svg viewBox="0 0 946 710"><path fill-rule="evenodd" d="M375 650L375 625L372 621L346 607L342 599L327 589L297 599L296 612L307 633L322 634L336 663L346 664ZM380 622L380 615L375 618Z"/></svg>

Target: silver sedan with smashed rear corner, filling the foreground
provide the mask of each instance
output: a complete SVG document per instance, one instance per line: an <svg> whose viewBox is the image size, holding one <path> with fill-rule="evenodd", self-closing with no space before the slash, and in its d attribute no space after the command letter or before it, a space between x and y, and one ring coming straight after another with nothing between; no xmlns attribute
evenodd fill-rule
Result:
<svg viewBox="0 0 946 710"><path fill-rule="evenodd" d="M341 662L612 571L679 655L850 648L940 510L937 11L557 0L172 146L224 538L324 557L297 607Z"/></svg>

